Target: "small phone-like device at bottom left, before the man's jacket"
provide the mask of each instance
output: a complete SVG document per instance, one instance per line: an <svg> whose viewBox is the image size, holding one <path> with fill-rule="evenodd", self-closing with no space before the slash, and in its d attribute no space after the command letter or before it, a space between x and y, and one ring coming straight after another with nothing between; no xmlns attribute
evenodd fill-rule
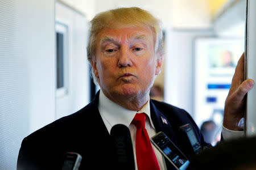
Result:
<svg viewBox="0 0 256 170"><path fill-rule="evenodd" d="M61 170L78 170L81 164L82 156L76 152L67 152L63 156Z"/></svg>

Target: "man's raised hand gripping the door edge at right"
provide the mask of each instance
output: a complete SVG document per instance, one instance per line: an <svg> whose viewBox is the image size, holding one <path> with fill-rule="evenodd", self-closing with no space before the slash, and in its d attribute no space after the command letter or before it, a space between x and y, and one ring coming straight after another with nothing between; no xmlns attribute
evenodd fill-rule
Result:
<svg viewBox="0 0 256 170"><path fill-rule="evenodd" d="M245 95L254 86L254 80L244 80L244 59L242 54L238 61L236 71L234 73L228 97L226 97L224 108L224 130L222 131L223 138L226 134L234 133L234 131L243 130L243 113L245 111ZM225 129L226 128L226 129Z"/></svg>

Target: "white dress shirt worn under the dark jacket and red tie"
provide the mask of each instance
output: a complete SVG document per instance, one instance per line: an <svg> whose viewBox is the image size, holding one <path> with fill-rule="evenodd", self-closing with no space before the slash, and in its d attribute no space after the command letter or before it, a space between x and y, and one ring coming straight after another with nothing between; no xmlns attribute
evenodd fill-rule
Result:
<svg viewBox="0 0 256 170"><path fill-rule="evenodd" d="M104 121L106 128L109 133L114 125L123 124L126 125L130 129L131 133L131 141L133 143L133 152L134 152L134 161L135 161L135 169L138 170L137 160L136 160L136 148L135 148L135 136L137 128L135 125L131 124L133 118L136 113L146 113L147 118L145 122L145 128L147 130L148 136L151 138L156 134L155 127L150 118L150 103L149 97L147 103L140 111L130 111L126 108L121 107L120 105L114 103L109 100L102 91L100 91L100 98L98 103L98 110L101 114L101 117ZM151 144L152 145L152 144ZM166 163L164 162L163 155L157 150L155 146L153 146L155 151L156 159L158 159L158 164L161 170L166 170Z"/></svg>

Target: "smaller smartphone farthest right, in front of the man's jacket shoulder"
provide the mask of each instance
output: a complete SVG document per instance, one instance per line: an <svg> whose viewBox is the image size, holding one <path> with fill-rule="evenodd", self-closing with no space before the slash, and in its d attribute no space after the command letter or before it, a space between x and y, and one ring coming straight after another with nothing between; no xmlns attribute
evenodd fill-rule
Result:
<svg viewBox="0 0 256 170"><path fill-rule="evenodd" d="M195 131L193 130L192 126L190 124L180 126L180 131L184 134L185 138L188 139L193 152L195 152L195 154L199 154L199 152L201 151L201 145L196 137Z"/></svg>

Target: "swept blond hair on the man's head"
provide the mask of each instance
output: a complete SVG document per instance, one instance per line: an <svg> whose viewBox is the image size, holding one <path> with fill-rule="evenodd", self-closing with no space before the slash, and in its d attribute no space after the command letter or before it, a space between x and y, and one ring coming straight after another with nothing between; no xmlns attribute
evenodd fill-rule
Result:
<svg viewBox="0 0 256 170"><path fill-rule="evenodd" d="M118 25L135 25L144 27L148 25L154 32L155 52L163 53L163 36L160 28L160 21L150 14L150 12L142 10L138 7L116 8L97 14L91 23L89 32L89 42L87 46L87 59L90 63L94 62L96 57L96 39L98 33L102 29L118 27ZM96 82L95 76L94 83Z"/></svg>

